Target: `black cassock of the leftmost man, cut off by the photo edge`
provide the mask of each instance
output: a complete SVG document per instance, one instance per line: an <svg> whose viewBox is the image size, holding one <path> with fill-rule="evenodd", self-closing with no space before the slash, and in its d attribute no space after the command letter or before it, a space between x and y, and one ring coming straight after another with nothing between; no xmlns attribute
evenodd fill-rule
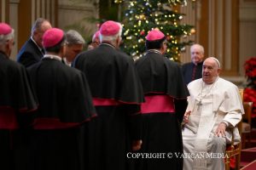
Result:
<svg viewBox="0 0 256 170"><path fill-rule="evenodd" d="M0 52L0 169L18 169L27 156L21 134L38 107L31 87L26 68Z"/></svg>

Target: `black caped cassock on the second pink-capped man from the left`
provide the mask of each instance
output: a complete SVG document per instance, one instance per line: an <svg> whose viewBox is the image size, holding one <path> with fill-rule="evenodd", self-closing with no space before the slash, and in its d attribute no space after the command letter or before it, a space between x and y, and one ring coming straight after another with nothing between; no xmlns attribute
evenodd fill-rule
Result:
<svg viewBox="0 0 256 170"><path fill-rule="evenodd" d="M43 58L28 71L39 103L30 169L85 169L84 131L96 111L84 73L54 58Z"/></svg>

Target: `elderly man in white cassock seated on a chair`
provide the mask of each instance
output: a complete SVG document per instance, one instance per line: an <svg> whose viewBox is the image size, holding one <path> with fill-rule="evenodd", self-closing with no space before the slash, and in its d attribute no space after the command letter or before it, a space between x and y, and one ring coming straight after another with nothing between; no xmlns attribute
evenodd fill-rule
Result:
<svg viewBox="0 0 256 170"><path fill-rule="evenodd" d="M218 77L218 59L209 57L203 63L202 78L188 85L189 105L183 122L183 169L224 169L224 151L236 124L244 113L235 84ZM235 128L233 128L235 127Z"/></svg>

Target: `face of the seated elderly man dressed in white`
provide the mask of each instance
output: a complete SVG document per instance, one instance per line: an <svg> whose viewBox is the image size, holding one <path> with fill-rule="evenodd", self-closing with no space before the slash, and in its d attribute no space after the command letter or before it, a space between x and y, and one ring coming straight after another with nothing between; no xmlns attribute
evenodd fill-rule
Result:
<svg viewBox="0 0 256 170"><path fill-rule="evenodd" d="M214 59L206 59L203 63L202 80L207 84L212 84L218 77L220 68Z"/></svg>

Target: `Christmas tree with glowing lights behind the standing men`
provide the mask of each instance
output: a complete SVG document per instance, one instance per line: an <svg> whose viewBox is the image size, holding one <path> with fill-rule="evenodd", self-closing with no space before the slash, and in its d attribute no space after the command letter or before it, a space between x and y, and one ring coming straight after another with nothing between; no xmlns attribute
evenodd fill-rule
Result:
<svg viewBox="0 0 256 170"><path fill-rule="evenodd" d="M184 14L177 12L178 7L186 5L186 0L137 0L121 1L115 3L128 3L122 24L123 50L133 58L143 56L145 52L145 36L148 31L159 29L166 35L168 48L166 57L178 60L180 53L191 42L181 42L181 37L191 34L193 26L181 25Z"/></svg>

